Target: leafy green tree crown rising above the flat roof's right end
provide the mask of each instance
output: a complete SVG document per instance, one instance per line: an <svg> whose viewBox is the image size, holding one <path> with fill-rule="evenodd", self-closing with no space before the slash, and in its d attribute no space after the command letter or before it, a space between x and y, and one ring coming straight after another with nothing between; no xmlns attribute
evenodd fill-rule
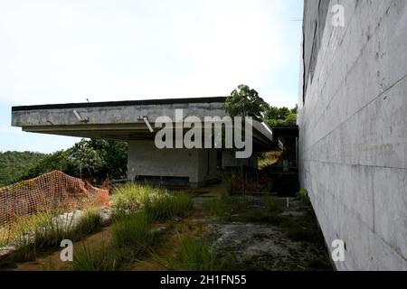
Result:
<svg viewBox="0 0 407 289"><path fill-rule="evenodd" d="M260 98L259 93L244 84L234 89L225 102L225 110L229 116L253 117L259 121L266 107L267 103Z"/></svg>

